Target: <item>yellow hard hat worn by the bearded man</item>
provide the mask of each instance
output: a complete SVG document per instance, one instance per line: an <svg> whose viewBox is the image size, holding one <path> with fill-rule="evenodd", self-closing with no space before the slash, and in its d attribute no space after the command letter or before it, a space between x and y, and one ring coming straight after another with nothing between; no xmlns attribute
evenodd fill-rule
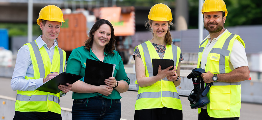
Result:
<svg viewBox="0 0 262 120"><path fill-rule="evenodd" d="M203 15L205 12L218 12L218 11L225 12L226 17L228 15L228 10L223 0L206 0L203 3L203 7L201 11Z"/></svg>

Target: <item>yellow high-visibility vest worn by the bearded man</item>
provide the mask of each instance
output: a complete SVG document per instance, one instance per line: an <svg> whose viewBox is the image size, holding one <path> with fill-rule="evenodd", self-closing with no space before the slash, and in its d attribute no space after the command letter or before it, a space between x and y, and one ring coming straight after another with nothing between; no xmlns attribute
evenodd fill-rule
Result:
<svg viewBox="0 0 262 120"><path fill-rule="evenodd" d="M234 40L237 39L245 47L244 41L237 34L224 33L216 42L208 54L205 71L213 74L229 73L229 56ZM200 68L201 58L208 43L205 38L199 46L198 68ZM240 82L213 82L207 93L210 103L207 105L208 115L215 118L239 117L241 107L241 84ZM198 113L201 109L198 109Z"/></svg>

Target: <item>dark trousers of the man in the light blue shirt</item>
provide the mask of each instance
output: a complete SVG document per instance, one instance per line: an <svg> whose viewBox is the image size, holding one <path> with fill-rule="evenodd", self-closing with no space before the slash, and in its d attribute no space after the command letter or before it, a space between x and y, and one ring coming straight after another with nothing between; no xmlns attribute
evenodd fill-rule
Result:
<svg viewBox="0 0 262 120"><path fill-rule="evenodd" d="M19 112L15 111L13 120L62 120L58 113L54 112Z"/></svg>

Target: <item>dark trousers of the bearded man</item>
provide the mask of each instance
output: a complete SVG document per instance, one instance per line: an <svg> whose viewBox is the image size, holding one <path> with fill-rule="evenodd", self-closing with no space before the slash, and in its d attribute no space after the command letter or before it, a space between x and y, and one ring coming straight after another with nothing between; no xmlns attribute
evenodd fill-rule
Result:
<svg viewBox="0 0 262 120"><path fill-rule="evenodd" d="M239 117L229 117L229 118L214 118L209 117L208 111L201 108L201 112L198 114L198 120L238 120Z"/></svg>

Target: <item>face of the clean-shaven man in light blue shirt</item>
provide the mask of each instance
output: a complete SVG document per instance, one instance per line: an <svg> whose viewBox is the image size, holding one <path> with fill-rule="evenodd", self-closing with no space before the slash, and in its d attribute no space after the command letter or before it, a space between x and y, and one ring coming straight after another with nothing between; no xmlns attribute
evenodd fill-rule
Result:
<svg viewBox="0 0 262 120"><path fill-rule="evenodd" d="M46 25L41 22L40 28L43 30L42 39L44 41L54 41L60 32L60 22L46 21Z"/></svg>

